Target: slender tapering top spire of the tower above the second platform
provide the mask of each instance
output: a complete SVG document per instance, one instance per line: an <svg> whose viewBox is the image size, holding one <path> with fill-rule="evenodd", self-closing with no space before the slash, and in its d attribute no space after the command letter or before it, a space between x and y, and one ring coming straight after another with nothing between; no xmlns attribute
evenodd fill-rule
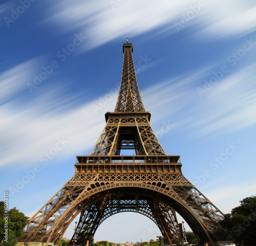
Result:
<svg viewBox="0 0 256 246"><path fill-rule="evenodd" d="M115 113L145 111L140 97L132 53L133 44L129 43L127 38L127 42L123 44L122 78Z"/></svg>

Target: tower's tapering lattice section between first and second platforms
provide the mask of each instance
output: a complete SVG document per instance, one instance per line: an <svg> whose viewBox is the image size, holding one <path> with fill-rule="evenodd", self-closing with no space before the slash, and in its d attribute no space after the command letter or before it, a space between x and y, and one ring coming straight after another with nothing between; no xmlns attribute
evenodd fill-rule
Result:
<svg viewBox="0 0 256 246"><path fill-rule="evenodd" d="M90 155L120 155L121 149L135 149L136 155L166 154L147 118L125 118L125 114L108 119Z"/></svg>

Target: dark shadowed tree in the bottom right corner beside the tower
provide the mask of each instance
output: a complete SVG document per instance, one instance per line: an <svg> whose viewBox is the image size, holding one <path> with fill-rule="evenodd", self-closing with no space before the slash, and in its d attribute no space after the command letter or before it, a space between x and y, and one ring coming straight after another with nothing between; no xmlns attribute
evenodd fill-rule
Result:
<svg viewBox="0 0 256 246"><path fill-rule="evenodd" d="M256 246L256 196L246 197L240 203L230 214L225 214L220 223L229 232L227 240Z"/></svg>

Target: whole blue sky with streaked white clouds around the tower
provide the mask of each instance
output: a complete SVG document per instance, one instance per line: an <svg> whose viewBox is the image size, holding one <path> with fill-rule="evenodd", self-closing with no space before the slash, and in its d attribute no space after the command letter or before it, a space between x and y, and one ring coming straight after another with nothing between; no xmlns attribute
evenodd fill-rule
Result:
<svg viewBox="0 0 256 246"><path fill-rule="evenodd" d="M166 153L181 155L187 179L224 213L256 195L255 11L248 0L2 1L9 208L32 216L74 174L76 155L91 152L116 104L127 37L152 127ZM143 215L121 213L95 240L158 234Z"/></svg>

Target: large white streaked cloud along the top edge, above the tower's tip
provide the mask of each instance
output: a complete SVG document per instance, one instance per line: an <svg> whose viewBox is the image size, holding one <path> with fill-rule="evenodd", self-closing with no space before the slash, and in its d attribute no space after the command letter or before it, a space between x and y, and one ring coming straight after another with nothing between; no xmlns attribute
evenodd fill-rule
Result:
<svg viewBox="0 0 256 246"><path fill-rule="evenodd" d="M85 49L92 49L124 35L133 37L160 27L165 27L165 32L176 33L175 21L182 23L184 16L198 5L199 1L189 0L162 0L150 4L145 0L77 1L71 4L66 0L51 4L51 9L45 13L44 22L57 25L58 34L83 30L83 34L88 37ZM195 37L200 39L205 34L207 38L219 38L251 32L256 25L255 7L243 5L241 13L240 5L239 1L204 1L204 7L199 12L194 10L193 18L185 23L183 21L184 27L190 24L205 25L194 32Z"/></svg>

